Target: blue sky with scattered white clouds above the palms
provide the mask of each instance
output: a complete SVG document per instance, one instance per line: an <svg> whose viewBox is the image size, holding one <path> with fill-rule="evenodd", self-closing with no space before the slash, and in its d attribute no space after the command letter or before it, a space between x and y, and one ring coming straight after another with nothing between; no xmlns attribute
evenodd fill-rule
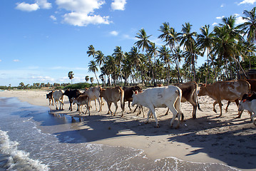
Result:
<svg viewBox="0 0 256 171"><path fill-rule="evenodd" d="M164 22L177 32L190 22L200 33L205 24L213 30L222 17L231 15L241 24L242 12L255 4L256 0L1 0L0 86L71 83L69 71L74 73L73 83L85 82L86 76L95 78L88 72L93 60L86 53L90 45L105 56L116 46L128 52L144 28L160 47ZM205 59L198 57L198 66Z"/></svg>

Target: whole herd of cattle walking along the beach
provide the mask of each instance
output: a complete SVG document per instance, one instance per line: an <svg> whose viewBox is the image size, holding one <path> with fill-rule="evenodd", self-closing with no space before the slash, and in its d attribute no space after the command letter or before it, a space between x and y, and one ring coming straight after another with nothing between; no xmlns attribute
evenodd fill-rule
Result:
<svg viewBox="0 0 256 171"><path fill-rule="evenodd" d="M200 90L198 91L198 86ZM198 103L198 96L208 95L213 98L215 102L213 103L213 111L215 110L215 105L218 104L220 107L220 115L222 115L222 100L228 100L227 107L230 102L235 102L238 108L238 116L240 118L243 110L248 110L251 116L252 123L256 126L254 121L256 112L256 80L234 80L234 81L220 81L210 85L198 84L193 81L188 83L178 83L172 86L158 86L155 88L147 88L142 90L139 86L133 86L130 88L121 88L116 86L114 88L101 88L100 86L92 87L84 90L81 93L80 90L54 90L46 94L46 98L49 100L49 105L56 105L56 110L58 110L57 103L60 104L59 109L63 110L63 95L68 96L69 100L69 110L73 110L72 105L77 104L79 115L83 113L82 106L86 106L86 113L90 115L91 101L95 101L96 110L96 100L99 104L99 112L102 110L103 98L106 100L108 105L108 114L116 115L116 110L118 109L118 101L121 101L121 109L123 116L123 110L125 102L128 101L128 107L130 108L130 102L132 105L137 105L140 108L139 112L143 112L143 107L148 108L148 118L153 115L155 118L156 127L158 125L158 119L155 115L155 108L168 108L173 113L173 118L170 121L170 125L173 126L175 118L178 118L178 125L184 118L182 108L180 103L188 101L193 105L193 119L196 119L196 110L200 109ZM240 102L239 102L240 100ZM111 110L111 104L116 105L116 110L113 113ZM226 107L226 112L227 112ZM130 109L131 110L131 109ZM168 114L168 110L165 115ZM85 114L86 114L85 113ZM252 115L253 113L253 115ZM144 115L144 113L143 113ZM147 118L147 123L148 123Z"/></svg>

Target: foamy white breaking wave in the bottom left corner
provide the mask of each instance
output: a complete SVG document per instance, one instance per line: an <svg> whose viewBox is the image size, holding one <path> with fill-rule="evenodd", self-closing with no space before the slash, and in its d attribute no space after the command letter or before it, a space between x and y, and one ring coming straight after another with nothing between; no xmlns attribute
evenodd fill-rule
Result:
<svg viewBox="0 0 256 171"><path fill-rule="evenodd" d="M44 165L39 160L29 158L29 152L18 150L19 142L11 141L6 131L0 130L0 150L8 156L5 164L6 170L49 170L48 165Z"/></svg>

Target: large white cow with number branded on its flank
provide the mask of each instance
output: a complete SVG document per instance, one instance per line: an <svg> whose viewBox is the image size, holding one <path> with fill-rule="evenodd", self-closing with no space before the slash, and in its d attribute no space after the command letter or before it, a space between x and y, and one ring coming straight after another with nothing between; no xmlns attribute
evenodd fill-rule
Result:
<svg viewBox="0 0 256 171"><path fill-rule="evenodd" d="M178 115L178 125L180 126L180 115L183 113L180 107L182 97L182 90L176 86L165 86L157 88L148 88L142 93L133 94L132 105L143 105L149 109L148 118L152 112L155 117L156 127L159 127L158 119L155 115L155 108L169 108L173 113L173 119L170 121L170 125L173 126L173 122ZM147 119L148 123L148 119Z"/></svg>

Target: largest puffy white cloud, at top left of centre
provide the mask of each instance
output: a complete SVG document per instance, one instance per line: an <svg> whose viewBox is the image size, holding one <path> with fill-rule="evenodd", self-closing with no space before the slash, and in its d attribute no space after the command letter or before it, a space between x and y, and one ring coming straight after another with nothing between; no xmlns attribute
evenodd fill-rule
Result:
<svg viewBox="0 0 256 171"><path fill-rule="evenodd" d="M58 8L71 11L63 15L63 22L73 26L87 26L88 24L110 24L109 16L94 14L101 9L105 1L100 0L56 0Z"/></svg>

